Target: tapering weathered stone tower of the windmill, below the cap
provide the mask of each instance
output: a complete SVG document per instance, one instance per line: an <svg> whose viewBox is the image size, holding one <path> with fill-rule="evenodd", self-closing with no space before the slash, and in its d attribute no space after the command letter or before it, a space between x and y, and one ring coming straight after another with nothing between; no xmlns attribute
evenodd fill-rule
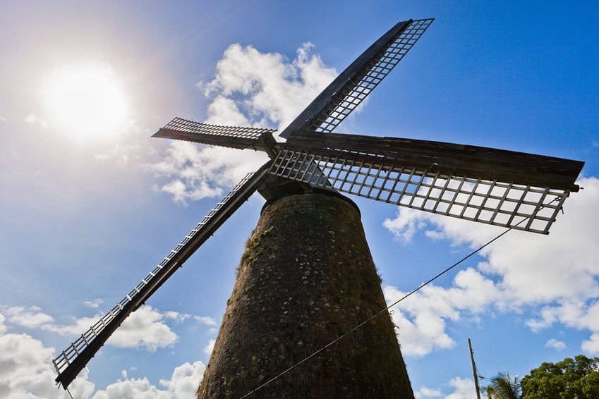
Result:
<svg viewBox="0 0 599 399"><path fill-rule="evenodd" d="M198 398L241 398L385 308L360 213L334 195L265 205ZM387 312L251 395L413 398Z"/></svg>

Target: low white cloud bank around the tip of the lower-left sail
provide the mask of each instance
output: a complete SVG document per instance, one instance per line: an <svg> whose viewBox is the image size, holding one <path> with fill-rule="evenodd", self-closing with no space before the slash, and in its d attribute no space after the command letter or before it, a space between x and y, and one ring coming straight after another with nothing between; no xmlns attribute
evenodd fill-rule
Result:
<svg viewBox="0 0 599 399"><path fill-rule="evenodd" d="M177 312L160 313L152 307L142 307L139 310L142 309L140 313L131 314L121 326L121 329L129 330L128 332L114 340L114 336L119 333L117 332L108 342L112 345L152 351L159 345L171 345L176 340L176 335L170 329L168 330L170 332L165 332L157 326L166 326L165 319L181 322L190 317ZM133 317L135 314L137 316ZM132 318L133 321L130 321ZM212 324L210 318L194 317L194 319L207 325ZM52 367L52 359L56 357L56 350L26 333L9 333L8 330L9 327L20 327L70 333L78 329L75 326L83 324L81 320L78 319L72 326L55 326L52 324L54 319L44 314L39 307L0 307L0 370L2 371L0 397L6 399L65 398L66 393L62 389L57 389L54 383L56 371ZM134 328L140 331L133 333L131 329ZM141 338L143 335L150 338L143 339ZM186 362L175 367L169 379L161 379L159 386L152 385L145 377L129 378L123 371L121 379L106 388L97 389L87 378L87 368L85 368L68 388L74 398L83 399L192 398L199 381L202 381L204 370L205 365L202 362L193 364Z"/></svg>

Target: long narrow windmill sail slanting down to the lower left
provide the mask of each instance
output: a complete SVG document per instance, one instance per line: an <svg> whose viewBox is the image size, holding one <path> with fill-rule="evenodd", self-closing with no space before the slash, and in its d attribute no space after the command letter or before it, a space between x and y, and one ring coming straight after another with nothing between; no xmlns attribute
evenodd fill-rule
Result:
<svg viewBox="0 0 599 399"><path fill-rule="evenodd" d="M204 219L172 250L164 260L150 271L141 283L131 290L107 314L83 333L75 342L53 360L58 376L56 382L66 388L79 374L85 364L102 348L112 333L125 321L131 312L138 309L155 291L167 281L183 263L198 250L217 228L257 190L267 174L270 163L248 175L219 202Z"/></svg>

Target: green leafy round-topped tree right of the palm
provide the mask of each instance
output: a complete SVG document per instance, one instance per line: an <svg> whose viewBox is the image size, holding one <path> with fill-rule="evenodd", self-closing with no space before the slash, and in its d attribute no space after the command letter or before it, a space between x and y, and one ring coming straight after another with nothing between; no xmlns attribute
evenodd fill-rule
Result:
<svg viewBox="0 0 599 399"><path fill-rule="evenodd" d="M599 398L599 357L543 363L521 381L522 399Z"/></svg>

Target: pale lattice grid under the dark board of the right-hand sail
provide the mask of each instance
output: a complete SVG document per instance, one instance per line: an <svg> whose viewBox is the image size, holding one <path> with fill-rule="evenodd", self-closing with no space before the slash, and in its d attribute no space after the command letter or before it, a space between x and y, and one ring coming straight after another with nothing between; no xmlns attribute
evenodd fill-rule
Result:
<svg viewBox="0 0 599 399"><path fill-rule="evenodd" d="M322 188L332 185L340 192L402 207L542 234L549 233L569 195L569 190L454 176L434 168L401 167L294 149L283 149L270 173Z"/></svg>

